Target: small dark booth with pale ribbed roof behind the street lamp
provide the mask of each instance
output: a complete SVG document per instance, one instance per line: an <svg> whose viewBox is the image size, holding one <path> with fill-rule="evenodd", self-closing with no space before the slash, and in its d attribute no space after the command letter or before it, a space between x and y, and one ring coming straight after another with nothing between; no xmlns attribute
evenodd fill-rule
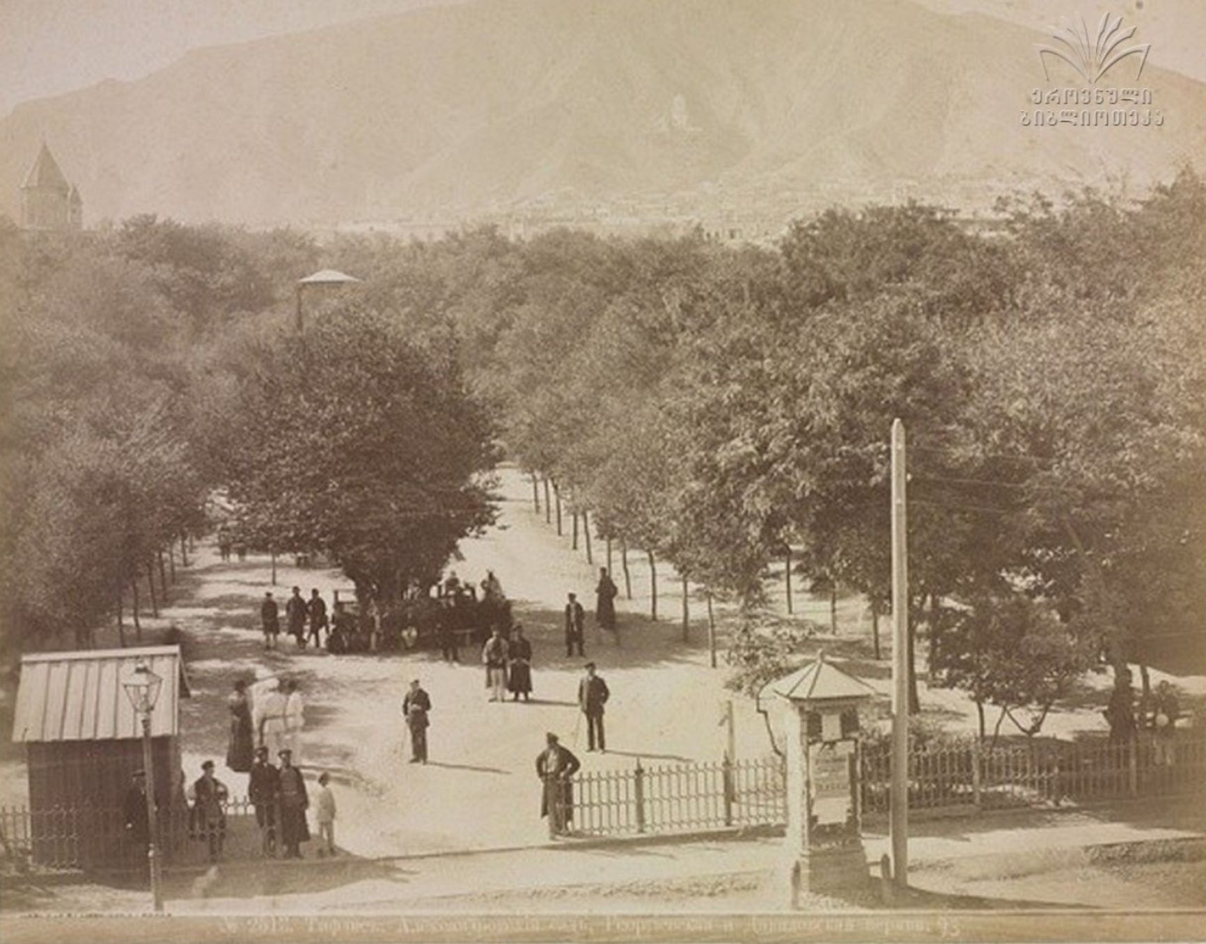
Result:
<svg viewBox="0 0 1206 944"><path fill-rule="evenodd" d="M180 646L22 656L12 739L25 745L30 852L40 864L98 868L142 863L125 839L124 798L142 768L142 725L122 687L145 663L163 680L151 713L162 846L187 829L180 699L189 696ZM147 785L151 790L151 785Z"/></svg>

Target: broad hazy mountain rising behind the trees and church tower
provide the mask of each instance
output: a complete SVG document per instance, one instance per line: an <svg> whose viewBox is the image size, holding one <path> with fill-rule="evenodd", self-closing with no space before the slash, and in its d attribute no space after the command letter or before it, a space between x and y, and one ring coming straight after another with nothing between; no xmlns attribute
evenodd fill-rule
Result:
<svg viewBox="0 0 1206 944"><path fill-rule="evenodd" d="M1040 39L909 0L425 7L22 102L0 212L42 137L90 221L250 224L1148 186L1206 153L1206 84L1154 66L1159 128L1021 127Z"/></svg>

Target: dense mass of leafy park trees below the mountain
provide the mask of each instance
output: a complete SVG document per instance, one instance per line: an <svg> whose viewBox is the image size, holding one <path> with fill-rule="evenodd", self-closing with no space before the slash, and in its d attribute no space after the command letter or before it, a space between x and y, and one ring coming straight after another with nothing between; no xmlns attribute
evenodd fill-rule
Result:
<svg viewBox="0 0 1206 944"><path fill-rule="evenodd" d="M574 533L736 600L753 690L801 641L767 628L773 562L886 612L900 417L931 684L1037 731L1085 668L1120 685L1200 639L1206 186L1001 212L985 233L835 210L769 250L0 230L10 618L116 606L217 486L254 546L327 552L393 596L488 522L497 434ZM318 266L363 283L295 336Z"/></svg>

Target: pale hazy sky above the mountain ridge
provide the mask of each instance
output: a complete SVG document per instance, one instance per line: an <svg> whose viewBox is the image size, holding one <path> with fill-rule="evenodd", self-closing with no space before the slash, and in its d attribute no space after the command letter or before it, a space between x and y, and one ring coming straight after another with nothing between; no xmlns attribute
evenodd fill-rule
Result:
<svg viewBox="0 0 1206 944"><path fill-rule="evenodd" d="M455 0L0 0L0 116L19 101L137 78L189 49ZM573 2L573 0L564 0ZM656 2L657 0L649 0ZM849 0L860 2L861 0ZM749 0L756 13L759 0ZM1036 29L1106 11L1137 25L1151 61L1206 81L1206 0L917 0Z"/></svg>

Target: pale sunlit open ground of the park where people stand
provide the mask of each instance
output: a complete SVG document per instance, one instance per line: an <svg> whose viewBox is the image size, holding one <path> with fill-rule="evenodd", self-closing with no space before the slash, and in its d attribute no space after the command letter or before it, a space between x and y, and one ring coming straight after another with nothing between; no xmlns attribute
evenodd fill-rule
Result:
<svg viewBox="0 0 1206 944"><path fill-rule="evenodd" d="M586 754L575 704L582 659L564 656L561 608L568 591L593 606L597 569L581 551L570 549L568 527L558 538L543 514L535 514L531 485L519 473L502 469L499 492L498 523L463 541L463 561L452 569L474 582L493 569L514 600L516 618L533 640L532 703L488 703L479 653L473 650L462 651L459 666L445 664L432 652L297 652L291 641L265 652L257 628L265 590L283 597L294 584L306 596L317 587L329 600L336 587L341 593L351 587L336 571L297 569L289 562L279 562L273 587L267 558L224 563L206 544L198 547L189 582L160 620L180 625L189 637L193 698L182 703L186 775L194 778L200 762L213 757L232 792L245 792L245 775L223 772L224 699L236 678L250 679L262 666L299 681L308 704L302 763L311 779L320 769L330 773L339 805L336 838L357 855L548 842L534 772L546 731L562 737L585 770L628 768L638 757L645 766L719 760L721 703L732 697L722 688L726 670L708 667L702 622L693 626L691 644L684 645L678 622L663 617L650 623L633 614L631 609L648 606L644 593L634 593L631 604L621 594L619 645L601 639L589 625L586 655L598 663L613 691L607 716L613 750ZM598 547L596 565L602 557ZM636 561L633 577L634 591L638 581L648 584ZM671 580L660 582L663 612L677 616L675 588ZM433 700L426 766L406 763L400 705L412 678L422 680ZM767 754L760 716L744 699L734 700L738 754Z"/></svg>

